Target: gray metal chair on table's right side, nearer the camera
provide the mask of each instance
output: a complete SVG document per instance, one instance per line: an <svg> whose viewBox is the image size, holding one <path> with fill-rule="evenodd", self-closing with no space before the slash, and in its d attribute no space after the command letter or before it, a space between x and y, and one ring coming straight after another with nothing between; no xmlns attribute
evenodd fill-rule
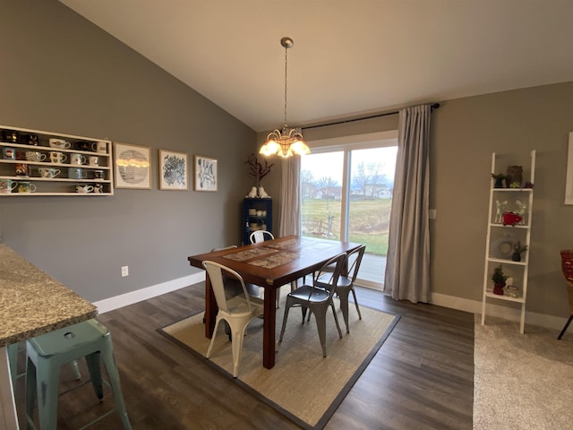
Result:
<svg viewBox="0 0 573 430"><path fill-rule="evenodd" d="M280 331L280 338L278 339L279 343L283 341L288 312L293 306L300 306L303 309L303 323L307 310L314 314L316 326L319 331L319 338L321 340L322 357L326 357L326 314L328 308L332 309L334 321L337 324L338 336L342 338L342 331L340 331L337 311L334 308L332 297L336 292L340 271L342 271L342 266L345 262L346 254L338 254L326 262L319 271L313 274L312 285L303 285L288 293L288 296L286 296L285 317L283 318L283 326ZM334 271L327 271L329 266L333 266Z"/></svg>

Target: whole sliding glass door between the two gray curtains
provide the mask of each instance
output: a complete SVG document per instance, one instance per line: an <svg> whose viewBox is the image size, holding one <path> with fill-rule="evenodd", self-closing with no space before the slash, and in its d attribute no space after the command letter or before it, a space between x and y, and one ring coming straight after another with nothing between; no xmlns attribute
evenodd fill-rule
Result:
<svg viewBox="0 0 573 430"><path fill-rule="evenodd" d="M303 236L366 244L359 272L365 287L384 281L396 145L339 145L302 158Z"/></svg>

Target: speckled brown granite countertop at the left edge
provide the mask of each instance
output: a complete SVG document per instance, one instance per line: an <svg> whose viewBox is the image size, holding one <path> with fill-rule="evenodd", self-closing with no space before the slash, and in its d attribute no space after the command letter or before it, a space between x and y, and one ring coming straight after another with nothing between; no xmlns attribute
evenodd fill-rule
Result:
<svg viewBox="0 0 573 430"><path fill-rule="evenodd" d="M0 244L0 347L97 314L95 305Z"/></svg>

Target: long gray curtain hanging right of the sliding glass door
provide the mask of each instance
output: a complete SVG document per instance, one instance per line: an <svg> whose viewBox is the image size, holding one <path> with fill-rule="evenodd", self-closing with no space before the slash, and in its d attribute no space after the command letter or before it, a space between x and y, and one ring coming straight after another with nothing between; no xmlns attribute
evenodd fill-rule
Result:
<svg viewBox="0 0 573 430"><path fill-rule="evenodd" d="M430 301L428 230L430 105L406 107L398 117L398 155L384 291L413 303Z"/></svg>

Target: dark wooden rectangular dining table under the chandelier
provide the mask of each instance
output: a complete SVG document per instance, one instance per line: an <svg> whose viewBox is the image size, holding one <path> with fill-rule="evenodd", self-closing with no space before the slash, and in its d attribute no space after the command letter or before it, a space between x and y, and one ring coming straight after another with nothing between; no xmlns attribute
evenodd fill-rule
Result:
<svg viewBox="0 0 573 430"><path fill-rule="evenodd" d="M350 253L360 244L304 236L285 236L238 248L192 255L193 267L202 262L223 264L238 272L246 283L264 288L262 366L275 366L275 322L277 288L317 271L330 258ZM205 280L205 336L211 338L217 318L217 302Z"/></svg>

